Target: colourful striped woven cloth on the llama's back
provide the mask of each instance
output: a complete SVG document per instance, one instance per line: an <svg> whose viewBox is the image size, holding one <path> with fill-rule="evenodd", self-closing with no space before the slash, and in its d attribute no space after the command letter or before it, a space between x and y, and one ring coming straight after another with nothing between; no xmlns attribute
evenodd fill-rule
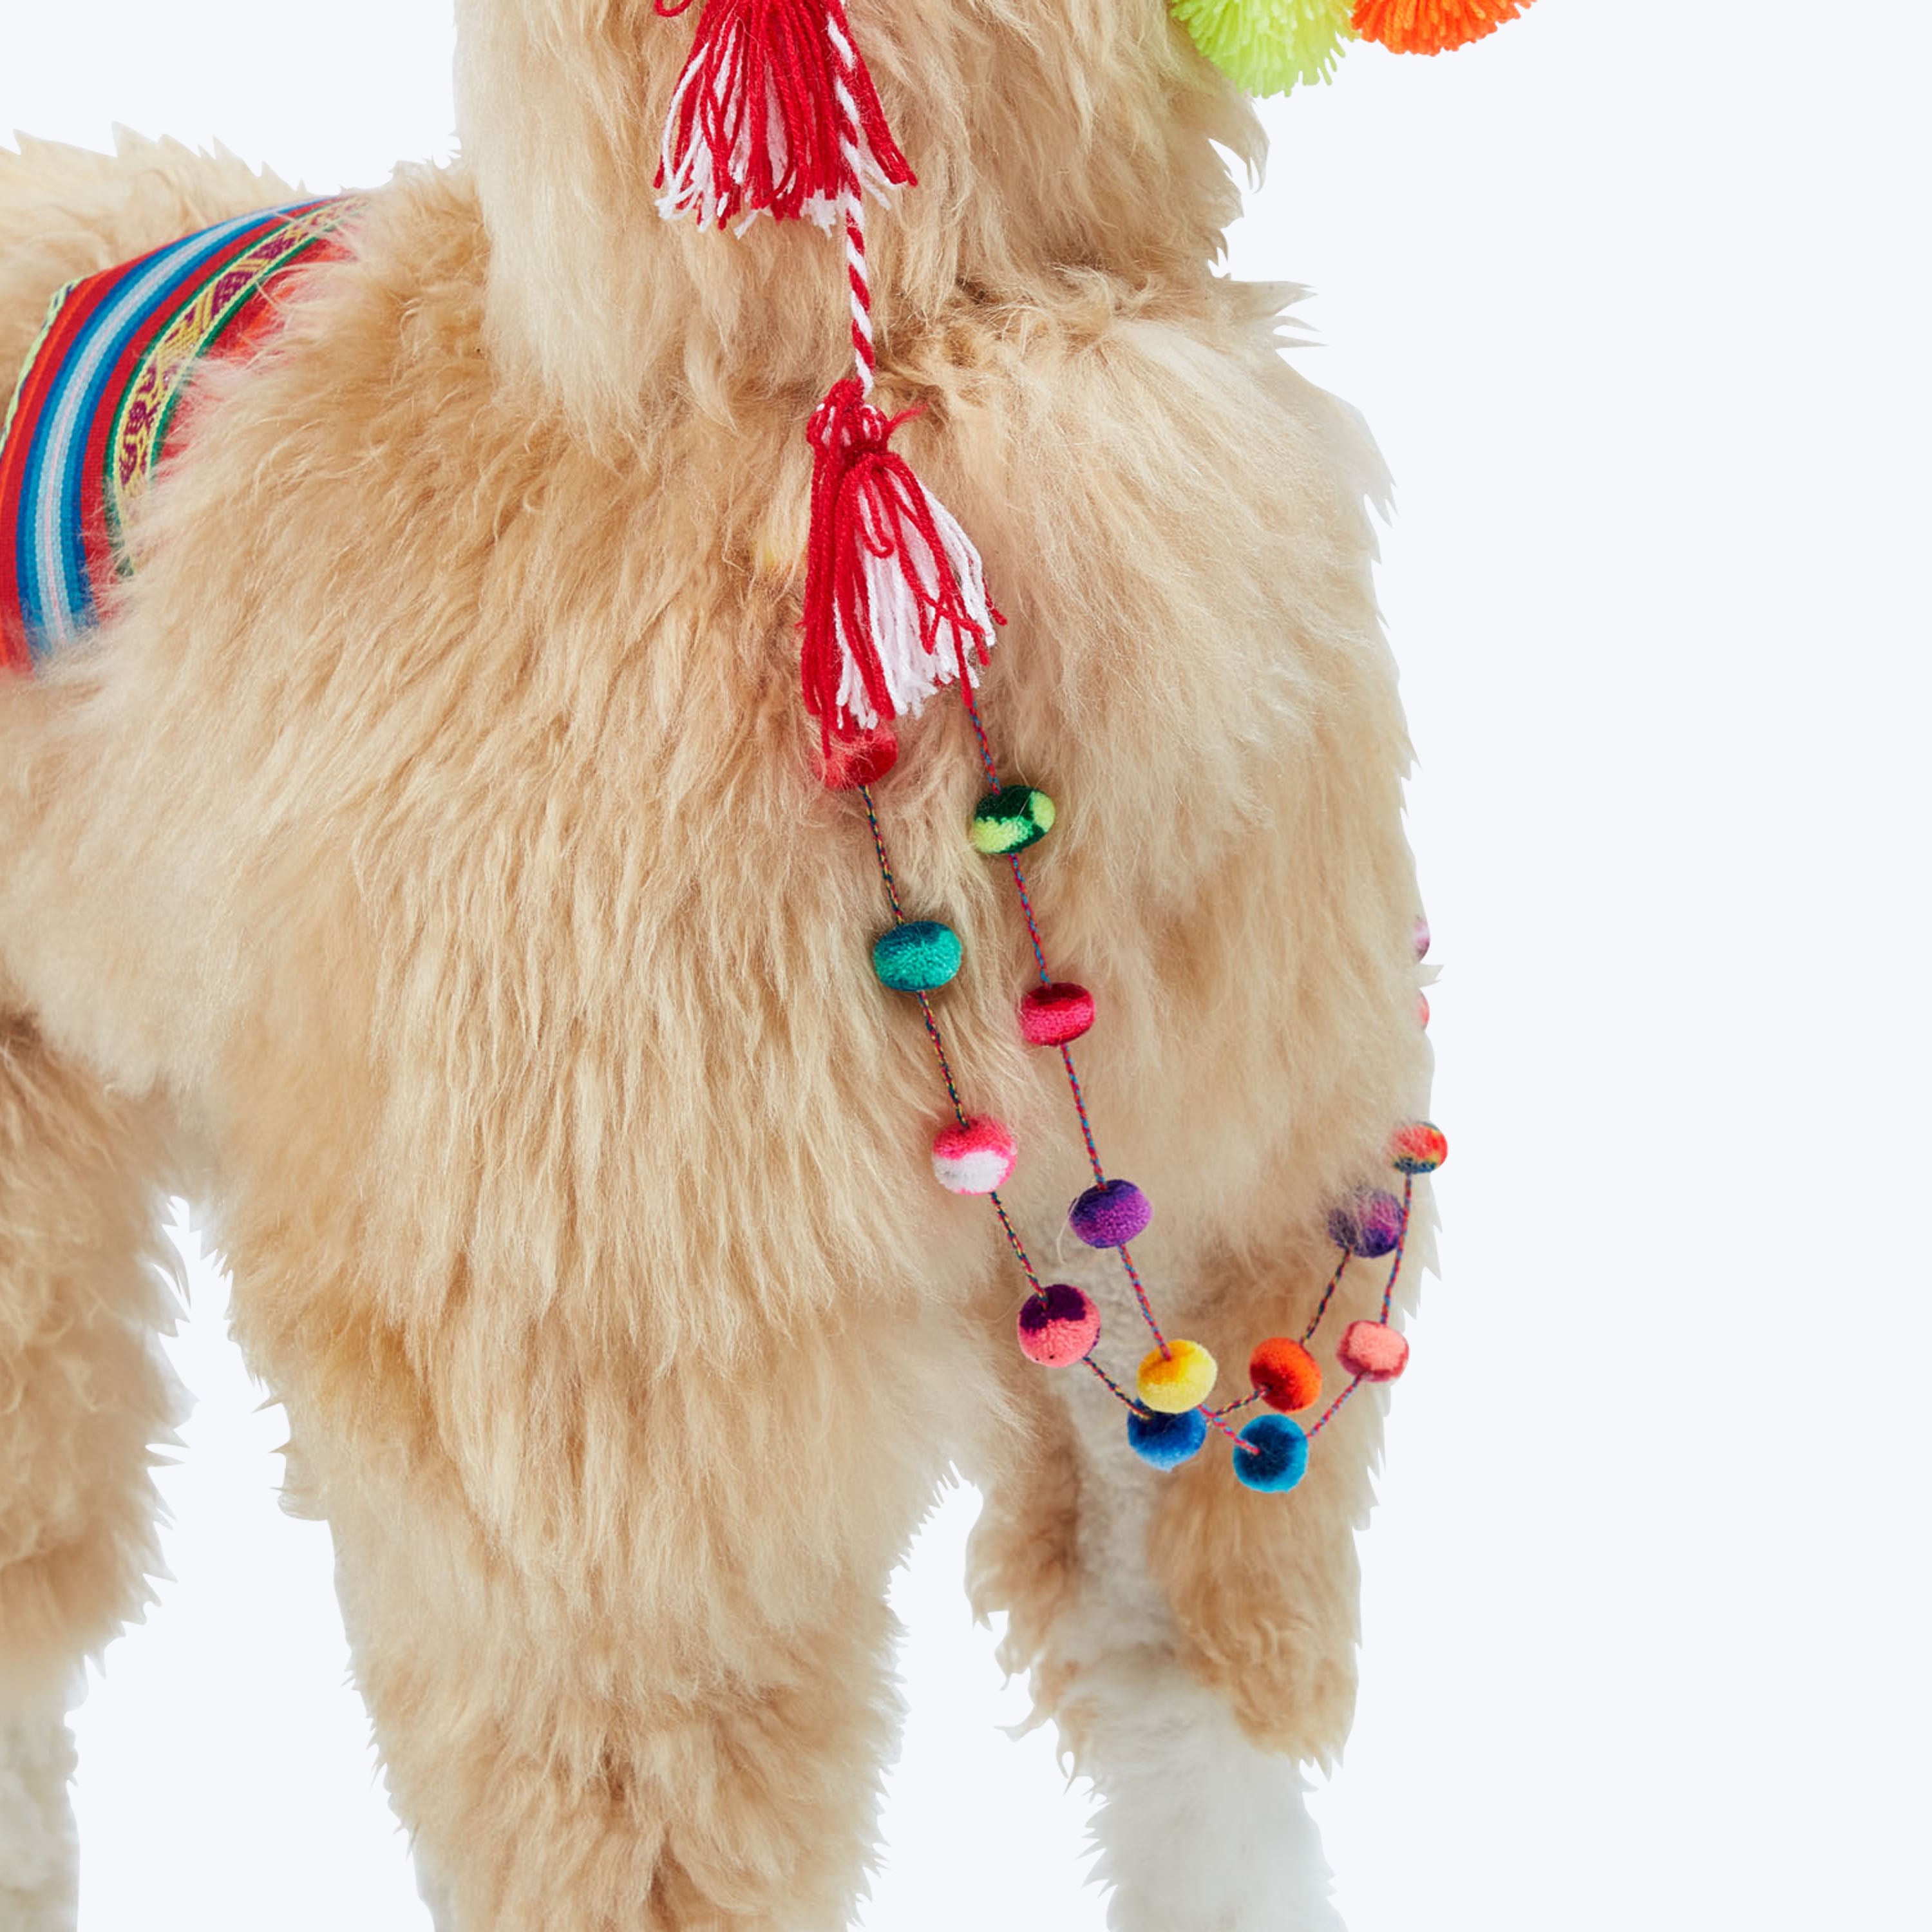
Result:
<svg viewBox="0 0 1932 1932"><path fill-rule="evenodd" d="M0 429L0 665L31 670L99 622L189 377L272 334L282 278L344 255L352 211L243 214L54 296Z"/></svg>

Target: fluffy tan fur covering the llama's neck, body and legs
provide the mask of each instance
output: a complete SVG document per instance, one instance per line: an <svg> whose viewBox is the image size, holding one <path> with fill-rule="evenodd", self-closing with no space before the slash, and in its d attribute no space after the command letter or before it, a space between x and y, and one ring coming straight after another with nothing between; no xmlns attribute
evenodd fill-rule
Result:
<svg viewBox="0 0 1932 1932"><path fill-rule="evenodd" d="M1209 272L1211 137L1256 133L1159 0L854 15L923 180L877 224L885 392L1012 620L985 711L1063 808L1034 881L1142 1260L1238 1378L1426 1090L1376 458L1281 363L1277 292ZM4 1644L50 1667L139 1600L151 1190L191 1159L462 1932L842 1924L885 1580L949 1461L1076 1750L1105 1486L1151 1511L1155 1648L1256 1743L1327 1758L1352 1700L1378 1403L1287 1499L1128 1466L1115 1414L1095 1451L1105 1395L1016 1362L997 1229L933 1188L927 1047L796 701L837 251L659 222L688 31L466 0L464 162L375 193L203 381L145 570L0 690ZM276 193L180 149L0 160L0 361L64 278ZM937 705L881 811L966 941L947 1026L1051 1254L1078 1140L1014 1039L974 773Z"/></svg>

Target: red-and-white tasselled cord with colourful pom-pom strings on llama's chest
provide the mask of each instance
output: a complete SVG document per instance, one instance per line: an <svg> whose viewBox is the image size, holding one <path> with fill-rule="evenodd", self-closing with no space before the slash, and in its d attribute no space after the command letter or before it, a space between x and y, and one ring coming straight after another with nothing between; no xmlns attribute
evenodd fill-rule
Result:
<svg viewBox="0 0 1932 1932"><path fill-rule="evenodd" d="M657 0L665 15L682 14L686 6L690 0ZM1482 14L1492 25L1513 12L1509 0L1422 4L1422 12L1432 8L1435 14ZM1345 8L1341 12L1347 15ZM1379 12L1389 14L1389 8ZM1406 8L1406 15L1416 12L1416 4ZM813 220L844 236L852 373L833 384L808 427L811 526L800 680L806 711L819 726L821 777L827 786L852 792L864 808L891 908L891 925L871 949L873 974L881 985L918 1001L945 1080L952 1121L933 1140L933 1173L954 1194L985 1196L999 1217L1030 1291L1016 1331L1032 1362L1090 1370L1126 1408L1130 1447L1157 1468L1186 1463L1208 1434L1217 1432L1233 1443L1235 1474L1250 1490L1293 1490L1308 1470L1312 1437L1356 1389L1393 1381L1406 1366L1408 1343L1389 1316L1408 1246L1416 1175L1434 1173L1447 1144L1426 1121L1395 1132L1389 1163L1403 1177L1403 1192L1370 1188L1333 1211L1329 1235L1339 1262L1314 1318L1298 1339L1277 1335L1254 1350L1246 1395L1209 1406L1217 1381L1213 1356L1200 1343L1163 1331L1134 1264L1132 1244L1153 1208L1130 1180L1107 1173L1094 1138L1072 1051L1095 1022L1094 997L1082 985L1053 978L1026 887L1020 854L1053 831L1055 804L1032 786L1003 782L974 696L980 667L1005 618L987 593L972 541L891 446L900 423L918 412L887 415L871 400L877 354L866 201L916 184L893 141L840 0L705 0L672 93L657 185L659 211L667 218L694 214L699 226L742 230L755 216L771 214ZM933 1005L933 995L960 970L960 939L939 920L906 916L879 823L871 788L898 757L893 723L916 717L925 699L949 684L958 688L985 779L966 837L980 854L1010 869L1037 970L1037 983L1018 1003L1020 1032L1030 1045L1061 1057L1094 1171L1092 1186L1068 1209L1068 1227L1086 1246L1111 1248L1119 1256L1151 1341L1132 1389L1109 1376L1095 1356L1101 1318L1094 1298L1068 1283L1041 1281L1007 1213L999 1190L1012 1175L1018 1148L999 1121L966 1111ZM1418 958L1426 945L1426 929L1418 925ZM1426 1018L1424 1007L1424 1024ZM1349 1267L1381 1258L1389 1258L1389 1273L1378 1320L1350 1321L1337 1345L1337 1362L1350 1379L1302 1428L1293 1414L1312 1410L1323 1389L1310 1343ZM1269 1412L1240 1424L1240 1412L1258 1403Z"/></svg>

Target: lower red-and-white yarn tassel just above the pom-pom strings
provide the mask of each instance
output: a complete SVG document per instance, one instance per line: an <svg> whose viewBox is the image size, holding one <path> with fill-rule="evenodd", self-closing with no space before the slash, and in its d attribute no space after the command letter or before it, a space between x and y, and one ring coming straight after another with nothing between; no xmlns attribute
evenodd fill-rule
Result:
<svg viewBox="0 0 1932 1932"><path fill-rule="evenodd" d="M980 553L912 466L856 375L811 415L811 545L802 674L821 744L914 717L943 684L978 684L993 628Z"/></svg>

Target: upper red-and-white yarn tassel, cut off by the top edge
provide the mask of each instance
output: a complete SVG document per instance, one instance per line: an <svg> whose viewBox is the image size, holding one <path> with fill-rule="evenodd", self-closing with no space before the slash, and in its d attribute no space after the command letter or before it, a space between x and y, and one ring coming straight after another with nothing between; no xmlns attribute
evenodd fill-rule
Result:
<svg viewBox="0 0 1932 1932"><path fill-rule="evenodd" d="M686 6L657 0L667 17ZM840 153L840 87L856 155ZM860 191L881 197L914 180L838 0L705 0L665 122L657 213L696 214L699 228L753 214L829 228L854 170Z"/></svg>

